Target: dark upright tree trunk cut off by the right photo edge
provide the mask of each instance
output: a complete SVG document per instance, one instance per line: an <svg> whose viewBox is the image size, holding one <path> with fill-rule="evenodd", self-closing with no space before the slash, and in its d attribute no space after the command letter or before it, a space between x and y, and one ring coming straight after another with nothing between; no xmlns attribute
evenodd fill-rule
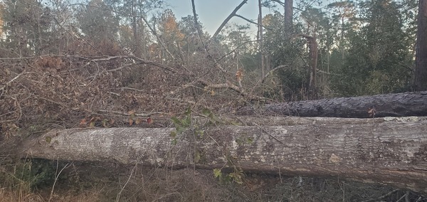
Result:
<svg viewBox="0 0 427 202"><path fill-rule="evenodd" d="M419 1L416 38L415 90L427 90L427 1Z"/></svg>

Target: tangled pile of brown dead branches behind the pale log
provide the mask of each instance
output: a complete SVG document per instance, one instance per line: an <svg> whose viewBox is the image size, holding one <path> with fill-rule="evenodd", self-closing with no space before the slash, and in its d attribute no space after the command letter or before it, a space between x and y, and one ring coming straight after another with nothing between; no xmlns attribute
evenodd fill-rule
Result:
<svg viewBox="0 0 427 202"><path fill-rule="evenodd" d="M226 67L225 61L214 63L204 55L192 65L169 65L116 49L114 56L85 50L85 56L2 59L2 132L10 136L22 135L20 128L32 134L52 127L148 124L148 118L168 119L189 105L196 112L208 108L224 113L262 98L244 90L242 70L216 68ZM243 85L255 84L245 80Z"/></svg>

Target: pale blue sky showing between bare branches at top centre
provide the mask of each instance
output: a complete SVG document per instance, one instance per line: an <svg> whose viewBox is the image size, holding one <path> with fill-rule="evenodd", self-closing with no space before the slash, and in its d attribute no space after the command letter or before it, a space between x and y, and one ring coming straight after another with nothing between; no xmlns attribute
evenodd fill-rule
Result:
<svg viewBox="0 0 427 202"><path fill-rule="evenodd" d="M213 34L223 20L226 19L241 2L241 0L195 0L196 12L205 30ZM191 11L191 0L167 0L165 3L170 5L170 9L174 11L177 20L180 20L183 16L193 14L193 11ZM268 14L268 12L268 9L263 9L263 16ZM258 18L258 0L249 0L247 4L241 7L237 14L256 21ZM233 17L231 22L239 24L247 23L238 17ZM256 35L255 26L253 26L251 30L253 30L253 32L255 32L253 34Z"/></svg>

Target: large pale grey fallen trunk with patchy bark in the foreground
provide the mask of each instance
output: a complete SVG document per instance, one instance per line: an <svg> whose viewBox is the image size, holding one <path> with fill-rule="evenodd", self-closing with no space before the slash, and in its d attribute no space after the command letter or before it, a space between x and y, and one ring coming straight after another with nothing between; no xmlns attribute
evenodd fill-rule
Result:
<svg viewBox="0 0 427 202"><path fill-rule="evenodd" d="M427 193L426 117L271 119L275 121L270 126L209 127L202 137L187 129L175 145L170 137L174 128L52 130L26 140L21 155L174 169L339 176ZM294 124L283 124L288 122Z"/></svg>

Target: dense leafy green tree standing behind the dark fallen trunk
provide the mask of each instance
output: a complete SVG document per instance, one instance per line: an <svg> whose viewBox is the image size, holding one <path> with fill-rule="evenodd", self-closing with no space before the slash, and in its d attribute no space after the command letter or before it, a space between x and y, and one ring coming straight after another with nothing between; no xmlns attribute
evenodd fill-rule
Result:
<svg viewBox="0 0 427 202"><path fill-rule="evenodd" d="M349 33L348 55L334 75L334 88L344 96L404 91L411 77L401 4L391 0L362 1L357 22Z"/></svg>

